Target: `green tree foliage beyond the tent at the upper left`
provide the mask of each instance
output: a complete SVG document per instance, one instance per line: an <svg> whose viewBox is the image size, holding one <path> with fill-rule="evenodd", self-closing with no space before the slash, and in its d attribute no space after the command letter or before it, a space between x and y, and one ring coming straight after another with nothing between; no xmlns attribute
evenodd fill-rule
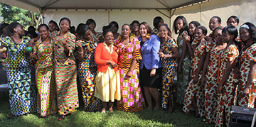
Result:
<svg viewBox="0 0 256 127"><path fill-rule="evenodd" d="M25 28L28 28L28 26L36 26L33 12L2 3L0 3L0 6L1 22L11 23L16 21L21 23L21 25L23 25ZM39 14L35 13L35 15L36 18L38 18Z"/></svg>

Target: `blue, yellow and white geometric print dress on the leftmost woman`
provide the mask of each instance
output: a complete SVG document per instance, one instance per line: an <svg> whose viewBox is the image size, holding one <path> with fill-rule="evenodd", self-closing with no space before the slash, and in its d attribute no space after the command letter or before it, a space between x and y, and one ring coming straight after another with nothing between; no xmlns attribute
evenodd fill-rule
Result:
<svg viewBox="0 0 256 127"><path fill-rule="evenodd" d="M28 63L26 48L30 40L23 37L16 44L11 38L3 38L7 47L6 69L9 85L11 114L21 116L36 111L36 92L31 82L31 67Z"/></svg>

